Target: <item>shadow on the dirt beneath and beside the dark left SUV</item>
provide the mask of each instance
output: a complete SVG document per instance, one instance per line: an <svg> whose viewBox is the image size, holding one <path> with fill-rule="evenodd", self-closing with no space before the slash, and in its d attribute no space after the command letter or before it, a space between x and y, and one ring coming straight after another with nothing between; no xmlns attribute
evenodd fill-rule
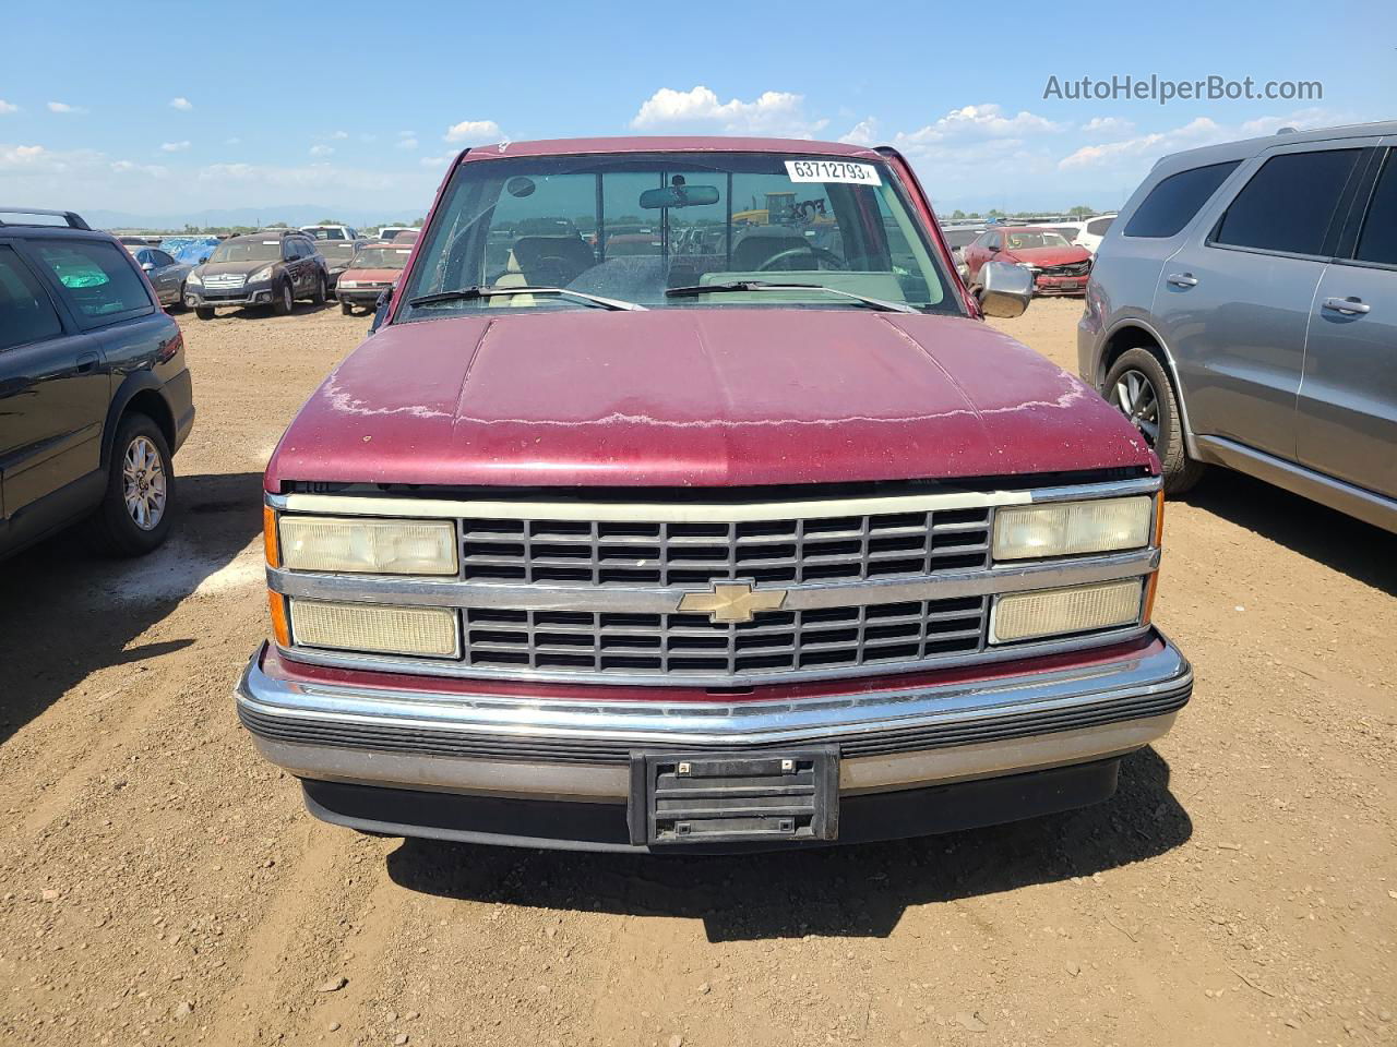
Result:
<svg viewBox="0 0 1397 1047"><path fill-rule="evenodd" d="M169 539L149 556L102 557L78 526L4 561L0 743L89 673L193 644L131 645L182 599L233 574L261 574L260 557L239 560L261 532L261 473L179 476L176 484Z"/></svg>

